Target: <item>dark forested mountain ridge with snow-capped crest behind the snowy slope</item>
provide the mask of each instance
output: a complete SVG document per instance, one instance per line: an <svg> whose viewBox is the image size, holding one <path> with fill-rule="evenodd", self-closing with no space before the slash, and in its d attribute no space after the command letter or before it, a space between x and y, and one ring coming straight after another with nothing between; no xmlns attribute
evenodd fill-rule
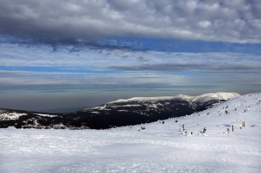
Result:
<svg viewBox="0 0 261 173"><path fill-rule="evenodd" d="M38 129L108 129L192 114L212 107L237 93L218 92L201 96L135 97L120 99L71 114L43 114L0 109L0 127Z"/></svg>

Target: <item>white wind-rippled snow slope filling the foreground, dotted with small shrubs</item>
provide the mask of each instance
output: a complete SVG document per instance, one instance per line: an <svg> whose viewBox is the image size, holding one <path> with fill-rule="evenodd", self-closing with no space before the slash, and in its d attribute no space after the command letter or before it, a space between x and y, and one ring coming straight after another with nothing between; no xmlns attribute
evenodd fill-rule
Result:
<svg viewBox="0 0 261 173"><path fill-rule="evenodd" d="M0 172L260 172L261 93L164 122L102 131L0 129ZM192 136L181 135L183 124ZM146 130L137 131L141 126ZM204 127L206 135L198 135Z"/></svg>

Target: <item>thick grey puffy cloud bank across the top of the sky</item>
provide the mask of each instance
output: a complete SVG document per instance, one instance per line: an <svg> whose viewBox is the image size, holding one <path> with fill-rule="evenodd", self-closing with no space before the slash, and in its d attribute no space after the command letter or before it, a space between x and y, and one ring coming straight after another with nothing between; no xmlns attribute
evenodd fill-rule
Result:
<svg viewBox="0 0 261 173"><path fill-rule="evenodd" d="M2 0L0 33L76 42L120 36L260 43L261 1Z"/></svg>

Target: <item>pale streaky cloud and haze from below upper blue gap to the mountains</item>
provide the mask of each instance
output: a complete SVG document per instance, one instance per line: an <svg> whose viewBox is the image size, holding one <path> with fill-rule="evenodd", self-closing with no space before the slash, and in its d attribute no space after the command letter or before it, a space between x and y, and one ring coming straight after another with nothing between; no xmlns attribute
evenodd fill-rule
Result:
<svg viewBox="0 0 261 173"><path fill-rule="evenodd" d="M0 44L0 107L91 107L134 96L260 92L261 57Z"/></svg>

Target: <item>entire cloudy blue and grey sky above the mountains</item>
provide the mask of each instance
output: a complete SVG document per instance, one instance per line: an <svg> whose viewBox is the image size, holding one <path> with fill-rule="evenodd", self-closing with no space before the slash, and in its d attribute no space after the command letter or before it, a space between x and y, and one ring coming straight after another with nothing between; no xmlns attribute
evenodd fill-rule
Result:
<svg viewBox="0 0 261 173"><path fill-rule="evenodd" d="M0 1L2 108L208 92L261 92L261 1Z"/></svg>

